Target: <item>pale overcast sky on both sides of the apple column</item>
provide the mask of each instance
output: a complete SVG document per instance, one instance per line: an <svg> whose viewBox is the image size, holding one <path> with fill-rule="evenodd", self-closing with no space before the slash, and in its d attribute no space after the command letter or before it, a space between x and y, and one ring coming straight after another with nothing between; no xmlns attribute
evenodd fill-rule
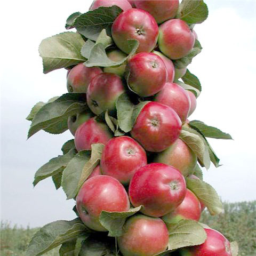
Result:
<svg viewBox="0 0 256 256"><path fill-rule="evenodd" d="M66 201L51 179L33 189L36 170L61 154L69 131L43 131L26 140L25 118L38 101L66 93L66 71L42 73L38 45L65 31L69 14L86 12L91 1L5 1L1 39L1 219L42 226L73 219L74 201ZM223 166L204 170L224 201L256 199L255 45L256 1L205 1L209 18L196 25L203 46L189 67L203 91L190 120L198 119L230 133L234 141L210 140ZM4 7L4 9L3 9Z"/></svg>

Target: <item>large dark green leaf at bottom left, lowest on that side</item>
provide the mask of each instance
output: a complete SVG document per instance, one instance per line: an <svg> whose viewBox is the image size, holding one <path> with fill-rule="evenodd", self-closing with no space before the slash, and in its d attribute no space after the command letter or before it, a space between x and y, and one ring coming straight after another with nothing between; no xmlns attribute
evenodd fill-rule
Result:
<svg viewBox="0 0 256 256"><path fill-rule="evenodd" d="M33 236L28 245L26 255L42 255L54 247L88 232L89 229L86 228L79 218L71 221L58 220L51 222L39 229Z"/></svg>

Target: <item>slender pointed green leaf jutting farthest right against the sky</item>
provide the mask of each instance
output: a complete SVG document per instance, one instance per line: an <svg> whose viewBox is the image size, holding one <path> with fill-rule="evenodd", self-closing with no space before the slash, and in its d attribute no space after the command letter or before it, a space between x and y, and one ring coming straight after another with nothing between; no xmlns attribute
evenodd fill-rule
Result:
<svg viewBox="0 0 256 256"><path fill-rule="evenodd" d="M190 121L189 126L198 129L207 138L232 140L232 137L228 133L222 132L213 126L206 125L201 121Z"/></svg>

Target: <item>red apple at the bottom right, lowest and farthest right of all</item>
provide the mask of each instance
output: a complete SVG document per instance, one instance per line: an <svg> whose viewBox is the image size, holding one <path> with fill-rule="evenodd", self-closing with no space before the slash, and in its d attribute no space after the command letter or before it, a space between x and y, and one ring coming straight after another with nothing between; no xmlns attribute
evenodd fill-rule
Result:
<svg viewBox="0 0 256 256"><path fill-rule="evenodd" d="M207 234L206 241L201 245L181 249L181 256L232 256L230 243L225 236L214 229L204 230Z"/></svg>

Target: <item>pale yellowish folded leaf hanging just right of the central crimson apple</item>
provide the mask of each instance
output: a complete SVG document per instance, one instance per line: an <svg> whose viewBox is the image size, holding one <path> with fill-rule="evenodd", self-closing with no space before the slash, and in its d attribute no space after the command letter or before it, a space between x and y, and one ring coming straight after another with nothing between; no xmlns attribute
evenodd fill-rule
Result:
<svg viewBox="0 0 256 256"><path fill-rule="evenodd" d="M184 127L183 127L184 129ZM203 163L206 169L210 168L210 155L204 143L204 140L199 135L186 130L181 130L180 138L193 150L199 160Z"/></svg>

